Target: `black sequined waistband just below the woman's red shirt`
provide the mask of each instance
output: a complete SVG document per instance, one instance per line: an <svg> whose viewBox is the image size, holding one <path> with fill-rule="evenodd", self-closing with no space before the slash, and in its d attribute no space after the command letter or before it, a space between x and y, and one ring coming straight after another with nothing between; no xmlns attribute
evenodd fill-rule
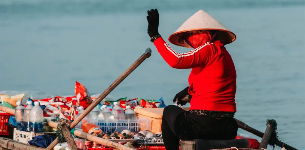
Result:
<svg viewBox="0 0 305 150"><path fill-rule="evenodd" d="M189 110L196 115L205 115L210 117L234 117L235 112L209 111L209 110Z"/></svg>

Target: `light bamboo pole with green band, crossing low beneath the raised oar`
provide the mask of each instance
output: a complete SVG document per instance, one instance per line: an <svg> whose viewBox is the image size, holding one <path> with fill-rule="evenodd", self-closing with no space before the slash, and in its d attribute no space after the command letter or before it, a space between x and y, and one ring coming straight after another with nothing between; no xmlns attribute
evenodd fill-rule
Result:
<svg viewBox="0 0 305 150"><path fill-rule="evenodd" d="M15 114L15 109L12 109L12 108L0 106L0 110L1 110L1 111L4 111L4 112L6 112L6 113L10 113L10 114L12 114L12 115ZM53 122L53 121L48 121L48 125L49 125L50 127L57 128L58 123ZM118 143L116 143L116 142L109 141L109 140L106 140L106 139L103 139L103 138L99 138L99 137L97 137L97 136L94 136L94 135L85 133L85 132L80 131L80 130L72 129L70 132L71 132L71 134L74 134L74 135L76 135L76 136L78 136L78 137L87 139L87 140L92 141L92 142L95 142L95 143L99 143L99 144L101 144L101 145L106 145L106 146L111 147L111 148L117 148L117 149L120 149L120 150L134 150L134 149L132 149L132 148L126 147L126 146L121 145L121 144L118 144ZM1 140L0 140L0 141L1 141ZM43 148L43 149L44 149L44 148Z"/></svg>

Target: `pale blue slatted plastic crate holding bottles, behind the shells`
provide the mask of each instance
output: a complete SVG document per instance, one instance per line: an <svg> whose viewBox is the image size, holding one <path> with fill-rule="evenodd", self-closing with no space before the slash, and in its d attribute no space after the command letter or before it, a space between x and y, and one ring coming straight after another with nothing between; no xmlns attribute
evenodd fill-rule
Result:
<svg viewBox="0 0 305 150"><path fill-rule="evenodd" d="M118 127L127 127L131 132L149 130L151 120L87 120L94 123L104 132L113 133ZM81 129L81 123L76 128Z"/></svg>

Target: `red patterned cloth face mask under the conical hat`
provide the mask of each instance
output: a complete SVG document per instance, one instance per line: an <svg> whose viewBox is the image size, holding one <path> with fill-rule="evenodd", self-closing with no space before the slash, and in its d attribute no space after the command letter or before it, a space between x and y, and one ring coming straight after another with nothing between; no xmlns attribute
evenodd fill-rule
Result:
<svg viewBox="0 0 305 150"><path fill-rule="evenodd" d="M211 34L209 31L206 31L204 33L197 33L193 34L190 37L188 37L188 41L190 42L190 46L193 48L198 48L199 46L204 45L206 42L210 42L211 40Z"/></svg>

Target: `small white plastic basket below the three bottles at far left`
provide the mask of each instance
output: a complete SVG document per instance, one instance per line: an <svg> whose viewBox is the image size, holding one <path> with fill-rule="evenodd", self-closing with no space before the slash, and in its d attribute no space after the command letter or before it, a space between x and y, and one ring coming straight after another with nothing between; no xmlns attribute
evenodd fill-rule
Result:
<svg viewBox="0 0 305 150"><path fill-rule="evenodd" d="M34 136L43 135L43 134L54 134L54 133L53 132L44 132L44 133L26 132L26 131L20 131L17 128L14 128L14 140L19 141L24 144L29 144L28 141L32 140Z"/></svg>

